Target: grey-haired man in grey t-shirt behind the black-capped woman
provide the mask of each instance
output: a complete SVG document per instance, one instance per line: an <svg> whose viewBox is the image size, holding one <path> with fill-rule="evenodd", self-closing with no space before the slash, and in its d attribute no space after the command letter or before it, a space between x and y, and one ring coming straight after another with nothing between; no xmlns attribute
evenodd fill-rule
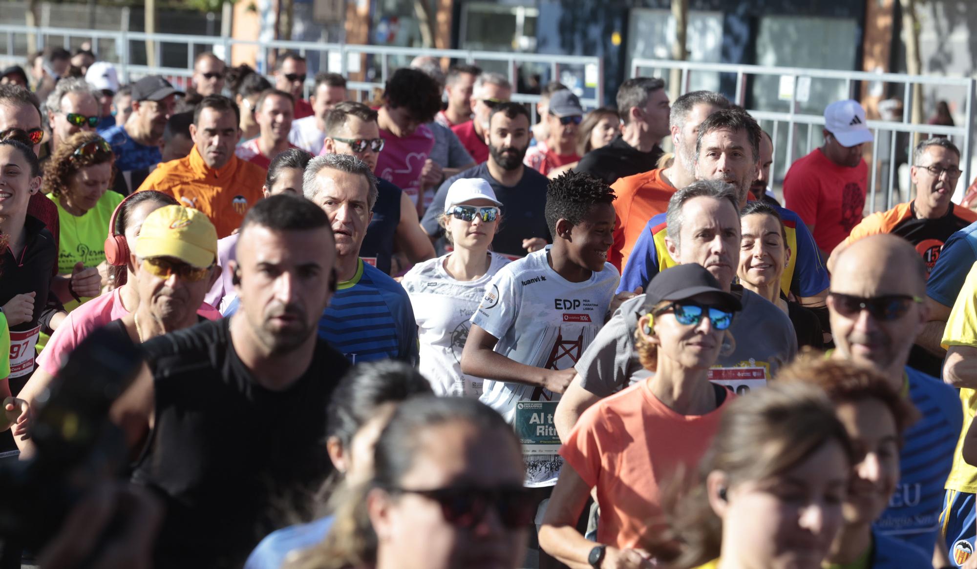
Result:
<svg viewBox="0 0 977 569"><path fill-rule="evenodd" d="M776 305L734 285L740 260L740 209L736 190L729 183L702 180L674 193L666 219L669 254L678 264L701 264L743 303L733 319L716 367L713 382L738 393L764 386L797 353L790 319ZM583 411L647 376L634 349L634 330L645 296L625 301L580 355L576 377L557 407L556 427L566 437Z"/></svg>

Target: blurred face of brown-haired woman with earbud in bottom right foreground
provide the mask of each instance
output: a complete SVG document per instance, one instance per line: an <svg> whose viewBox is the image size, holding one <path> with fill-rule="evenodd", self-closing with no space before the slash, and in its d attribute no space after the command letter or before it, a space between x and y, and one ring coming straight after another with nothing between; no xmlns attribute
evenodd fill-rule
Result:
<svg viewBox="0 0 977 569"><path fill-rule="evenodd" d="M728 490L723 544L739 567L821 569L841 527L850 465L835 440L785 472ZM714 507L715 509L715 507ZM724 560L729 556L723 548ZM733 549L733 548L730 548Z"/></svg>

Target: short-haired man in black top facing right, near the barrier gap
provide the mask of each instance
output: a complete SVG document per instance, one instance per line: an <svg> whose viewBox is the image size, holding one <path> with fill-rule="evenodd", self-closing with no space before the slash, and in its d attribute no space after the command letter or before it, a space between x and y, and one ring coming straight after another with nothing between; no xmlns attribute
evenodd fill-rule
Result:
<svg viewBox="0 0 977 569"><path fill-rule="evenodd" d="M670 109L661 79L635 77L624 81L617 89L620 134L607 146L587 152L573 170L606 183L655 170L662 154L658 143L670 132Z"/></svg>

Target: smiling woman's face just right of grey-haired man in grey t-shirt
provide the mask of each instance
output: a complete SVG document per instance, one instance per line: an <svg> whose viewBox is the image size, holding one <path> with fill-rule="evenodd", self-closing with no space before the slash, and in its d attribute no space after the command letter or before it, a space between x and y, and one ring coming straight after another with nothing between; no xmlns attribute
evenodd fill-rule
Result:
<svg viewBox="0 0 977 569"><path fill-rule="evenodd" d="M780 284L789 255L784 226L767 214L743 216L740 224L740 281L753 286Z"/></svg>

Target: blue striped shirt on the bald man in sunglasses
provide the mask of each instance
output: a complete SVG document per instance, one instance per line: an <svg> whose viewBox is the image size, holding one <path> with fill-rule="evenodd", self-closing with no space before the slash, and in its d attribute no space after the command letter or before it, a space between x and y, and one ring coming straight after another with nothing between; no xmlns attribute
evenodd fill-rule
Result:
<svg viewBox="0 0 977 569"><path fill-rule="evenodd" d="M954 464L963 412L953 387L909 366L906 376L921 419L906 431L899 484L874 527L879 534L932 551L940 534L944 484Z"/></svg>

